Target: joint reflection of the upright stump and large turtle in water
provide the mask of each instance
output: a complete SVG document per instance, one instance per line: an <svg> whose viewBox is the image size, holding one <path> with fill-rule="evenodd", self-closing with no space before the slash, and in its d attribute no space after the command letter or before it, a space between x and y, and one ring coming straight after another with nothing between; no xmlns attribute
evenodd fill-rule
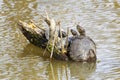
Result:
<svg viewBox="0 0 120 80"><path fill-rule="evenodd" d="M94 73L96 63L50 62L49 80L86 80Z"/></svg>

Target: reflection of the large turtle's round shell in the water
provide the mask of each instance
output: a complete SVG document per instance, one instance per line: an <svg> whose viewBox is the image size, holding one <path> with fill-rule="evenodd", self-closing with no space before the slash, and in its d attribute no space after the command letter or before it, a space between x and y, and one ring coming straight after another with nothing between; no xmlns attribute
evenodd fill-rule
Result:
<svg viewBox="0 0 120 80"><path fill-rule="evenodd" d="M88 78L96 69L96 63L72 63L70 64L71 76L78 79Z"/></svg>

